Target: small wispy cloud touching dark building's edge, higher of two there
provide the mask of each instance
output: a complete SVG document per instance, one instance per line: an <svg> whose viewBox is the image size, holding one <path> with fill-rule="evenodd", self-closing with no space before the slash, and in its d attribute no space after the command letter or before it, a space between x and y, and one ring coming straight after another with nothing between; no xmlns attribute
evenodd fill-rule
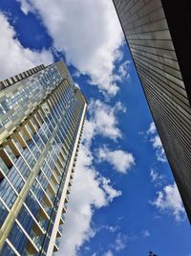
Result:
<svg viewBox="0 0 191 256"><path fill-rule="evenodd" d="M150 124L150 127L147 130L147 134L150 136L150 141L152 142L153 148L156 151L157 159L160 162L166 162L165 152L163 150L163 147L162 147L159 135L158 135L158 131L157 131L157 128L156 128L154 122L152 122Z"/></svg>

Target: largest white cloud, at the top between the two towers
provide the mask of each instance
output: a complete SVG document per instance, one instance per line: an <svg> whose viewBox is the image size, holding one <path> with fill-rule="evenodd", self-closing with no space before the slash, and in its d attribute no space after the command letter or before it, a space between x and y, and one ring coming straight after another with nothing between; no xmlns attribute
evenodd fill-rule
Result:
<svg viewBox="0 0 191 256"><path fill-rule="evenodd" d="M91 83L110 96L117 94L115 61L123 35L112 0L20 0L21 9L41 17L53 46ZM46 7L46 8L45 8Z"/></svg>

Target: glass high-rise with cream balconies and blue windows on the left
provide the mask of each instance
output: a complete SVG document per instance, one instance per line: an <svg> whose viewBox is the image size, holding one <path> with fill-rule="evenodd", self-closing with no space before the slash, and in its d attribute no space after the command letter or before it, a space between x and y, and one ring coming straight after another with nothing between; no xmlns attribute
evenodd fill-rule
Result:
<svg viewBox="0 0 191 256"><path fill-rule="evenodd" d="M61 61L0 89L0 255L53 255L87 101Z"/></svg>

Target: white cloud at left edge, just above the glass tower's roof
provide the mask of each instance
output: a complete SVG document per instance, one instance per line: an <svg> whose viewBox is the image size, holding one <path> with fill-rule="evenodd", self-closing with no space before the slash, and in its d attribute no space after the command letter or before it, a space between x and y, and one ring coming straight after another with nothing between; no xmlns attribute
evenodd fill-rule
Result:
<svg viewBox="0 0 191 256"><path fill-rule="evenodd" d="M0 24L0 80L39 64L53 63L53 56L49 51L37 52L24 48L16 38L8 18L2 12L0 12Z"/></svg>

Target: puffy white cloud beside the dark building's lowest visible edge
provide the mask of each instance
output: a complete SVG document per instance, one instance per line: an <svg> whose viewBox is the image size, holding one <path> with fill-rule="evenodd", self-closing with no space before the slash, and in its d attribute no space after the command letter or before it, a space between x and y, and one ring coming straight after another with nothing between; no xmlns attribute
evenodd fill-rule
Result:
<svg viewBox="0 0 191 256"><path fill-rule="evenodd" d="M180 193L175 183L165 186L163 191L158 192L158 198L151 203L159 210L171 213L176 221L181 221L185 216Z"/></svg>

